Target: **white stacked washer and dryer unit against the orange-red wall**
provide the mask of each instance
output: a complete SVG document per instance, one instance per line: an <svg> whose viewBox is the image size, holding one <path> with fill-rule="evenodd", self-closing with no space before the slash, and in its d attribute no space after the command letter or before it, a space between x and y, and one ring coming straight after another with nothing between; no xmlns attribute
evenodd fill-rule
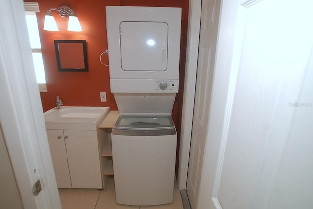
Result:
<svg viewBox="0 0 313 209"><path fill-rule="evenodd" d="M173 202L181 8L107 6L116 202Z"/></svg>

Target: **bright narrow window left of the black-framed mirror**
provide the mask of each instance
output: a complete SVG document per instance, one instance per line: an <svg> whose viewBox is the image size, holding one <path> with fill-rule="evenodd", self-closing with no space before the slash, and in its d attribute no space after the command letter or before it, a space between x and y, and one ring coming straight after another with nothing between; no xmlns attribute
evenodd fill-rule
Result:
<svg viewBox="0 0 313 209"><path fill-rule="evenodd" d="M39 12L38 3L24 3L24 6L26 11L26 23L39 91L47 92L44 62L41 53L41 44L36 17L36 12Z"/></svg>

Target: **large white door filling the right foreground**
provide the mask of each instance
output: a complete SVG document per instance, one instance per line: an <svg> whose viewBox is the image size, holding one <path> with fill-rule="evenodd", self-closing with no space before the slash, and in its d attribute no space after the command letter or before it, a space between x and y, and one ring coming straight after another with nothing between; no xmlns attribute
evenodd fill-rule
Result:
<svg viewBox="0 0 313 209"><path fill-rule="evenodd" d="M197 208L312 209L313 1L221 8Z"/></svg>

